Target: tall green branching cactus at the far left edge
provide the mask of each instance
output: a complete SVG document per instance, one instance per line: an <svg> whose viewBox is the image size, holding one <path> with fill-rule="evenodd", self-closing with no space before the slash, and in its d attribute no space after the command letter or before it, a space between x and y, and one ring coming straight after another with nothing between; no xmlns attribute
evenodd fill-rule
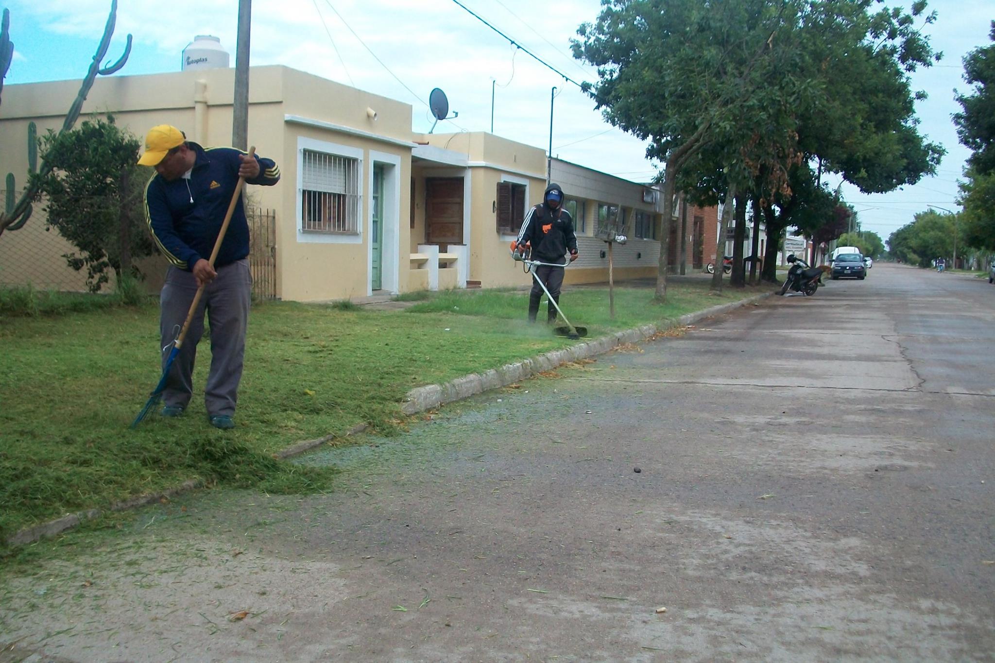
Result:
<svg viewBox="0 0 995 663"><path fill-rule="evenodd" d="M66 120L63 122L61 131L69 131L76 124L76 120L80 117L80 111L83 109L83 103L87 100L90 88L94 86L94 81L97 80L97 77L109 76L124 67L124 63L127 62L127 58L131 54L131 35L128 35L127 43L124 45L124 53L121 54L121 57L112 65L107 64L100 67L100 62L107 54L107 49L110 46L110 37L114 33L116 17L117 0L110 0L110 14L107 16L106 24L103 26L103 36L100 38L100 45L97 47L97 53L94 54L94 61L90 64L87 76L80 85L80 91L73 101L73 105L70 106L69 112L66 113ZM9 56L14 52L14 45L10 43L7 34L9 22L10 12L5 9L3 13L2 34L0 34L0 72L3 74L6 74L6 68L10 66ZM6 58L4 57L5 55L7 56ZM2 80L0 80L0 88L2 88ZM45 165L44 159L42 159L41 167L39 167L38 130L34 122L28 125L28 168L32 177L21 193L21 197L13 206L8 206L0 214L0 235L3 235L4 231L19 230L28 222L28 219L31 217L31 201L38 196L38 182L44 179L52 170ZM7 177L7 184L7 196L9 197L11 195L10 192L14 189L13 176Z"/></svg>

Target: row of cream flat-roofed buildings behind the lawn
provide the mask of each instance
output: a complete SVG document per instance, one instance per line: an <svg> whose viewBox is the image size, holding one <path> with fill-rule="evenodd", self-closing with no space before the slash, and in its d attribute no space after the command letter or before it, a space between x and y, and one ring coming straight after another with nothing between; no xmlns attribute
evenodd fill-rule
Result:
<svg viewBox="0 0 995 663"><path fill-rule="evenodd" d="M233 85L233 69L99 78L84 110L112 112L138 136L170 123L203 145L226 145ZM0 172L24 181L28 122L39 134L57 129L78 89L78 81L5 86ZM486 132L415 134L411 118L411 105L395 99L287 67L251 70L250 142L283 173L277 186L249 191L276 213L262 250L276 255L277 297L321 301L529 282L508 246L541 200L545 152ZM568 282L607 279L605 244L594 235L616 211L630 238L615 248L616 278L656 273L658 191L557 159L552 179L577 218L581 257ZM82 289L83 277L61 257L71 249L45 232L36 211L24 229L0 236L0 285ZM151 287L164 268L164 260L146 265Z"/></svg>

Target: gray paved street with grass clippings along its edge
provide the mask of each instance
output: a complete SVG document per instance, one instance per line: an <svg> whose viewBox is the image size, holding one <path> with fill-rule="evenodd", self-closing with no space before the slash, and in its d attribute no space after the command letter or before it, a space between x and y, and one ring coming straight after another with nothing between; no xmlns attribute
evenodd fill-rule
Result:
<svg viewBox="0 0 995 663"><path fill-rule="evenodd" d="M145 510L0 661L995 660L993 422L995 286L877 263Z"/></svg>

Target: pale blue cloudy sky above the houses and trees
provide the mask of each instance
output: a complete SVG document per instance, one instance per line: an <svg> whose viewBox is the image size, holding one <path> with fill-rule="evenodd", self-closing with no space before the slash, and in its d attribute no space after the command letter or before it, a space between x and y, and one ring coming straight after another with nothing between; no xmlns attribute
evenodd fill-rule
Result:
<svg viewBox="0 0 995 663"><path fill-rule="evenodd" d="M598 0L460 1L560 74L576 82L596 80L593 69L570 57L569 40L580 23L597 17ZM16 53L6 83L82 78L109 5L109 0L8 1ZM995 18L991 0L932 0L930 7L939 19L925 31L944 59L914 75L912 83L929 94L917 106L920 128L947 149L947 156L936 177L903 191L864 196L844 185L864 228L886 240L927 205L958 209L956 180L967 152L950 122L959 108L953 89L965 89L961 58L988 43ZM116 60L131 33L131 57L117 76L174 72L193 37L210 34L232 53L234 66L237 8L237 0L119 0L108 58ZM256 0L252 64L286 65L411 103L417 131L432 125L427 101L433 87L446 90L451 109L460 113L440 122L437 132L491 130L494 88L495 133L543 148L555 85L554 155L636 181L656 172L645 145L607 124L575 84L511 47L454 0Z"/></svg>

